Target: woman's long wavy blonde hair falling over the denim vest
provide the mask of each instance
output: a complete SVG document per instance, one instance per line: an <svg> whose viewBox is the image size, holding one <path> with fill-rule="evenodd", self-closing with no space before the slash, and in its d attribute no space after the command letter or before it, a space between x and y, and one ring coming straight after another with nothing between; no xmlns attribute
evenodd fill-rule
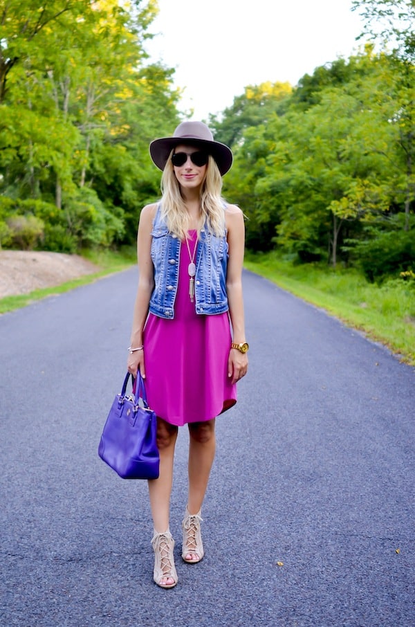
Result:
<svg viewBox="0 0 415 627"><path fill-rule="evenodd" d="M180 185L174 174L172 154L169 154L163 176L161 177L161 214L170 233L186 239L189 230L190 216L180 192ZM201 188L201 221L198 235L203 225L210 233L217 236L225 235L225 201L221 197L222 177L216 161L209 155L205 180Z"/></svg>

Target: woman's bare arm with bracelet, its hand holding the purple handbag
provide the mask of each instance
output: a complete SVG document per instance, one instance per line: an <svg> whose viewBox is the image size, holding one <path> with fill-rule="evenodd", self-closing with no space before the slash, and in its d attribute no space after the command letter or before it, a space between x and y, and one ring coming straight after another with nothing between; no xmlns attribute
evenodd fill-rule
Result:
<svg viewBox="0 0 415 627"><path fill-rule="evenodd" d="M138 287L136 302L133 309L133 324L130 346L142 346L142 332L149 312L149 302L154 289L154 266L151 261L151 229L156 212L156 205L147 205L142 209L137 234ZM138 350L129 354L128 371L136 376L138 368L145 378L144 351Z"/></svg>

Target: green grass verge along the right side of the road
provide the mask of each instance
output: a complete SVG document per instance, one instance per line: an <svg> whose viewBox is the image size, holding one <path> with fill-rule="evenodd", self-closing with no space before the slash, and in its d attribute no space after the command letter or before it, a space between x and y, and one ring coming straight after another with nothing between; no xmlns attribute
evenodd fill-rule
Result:
<svg viewBox="0 0 415 627"><path fill-rule="evenodd" d="M364 331L415 365L415 282L371 284L356 271L317 264L293 265L275 253L246 255L245 266L279 287Z"/></svg>

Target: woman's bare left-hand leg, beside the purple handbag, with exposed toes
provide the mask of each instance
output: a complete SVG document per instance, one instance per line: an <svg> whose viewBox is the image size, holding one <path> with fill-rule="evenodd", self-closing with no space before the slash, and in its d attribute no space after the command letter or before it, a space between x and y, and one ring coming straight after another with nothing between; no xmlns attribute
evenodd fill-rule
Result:
<svg viewBox="0 0 415 627"><path fill-rule="evenodd" d="M157 446L160 453L160 475L158 479L149 480L149 498L151 515L154 523L154 533L164 534L169 531L170 494L173 482L174 448L176 446L178 429L157 419ZM174 584L170 576L163 577L158 585Z"/></svg>

